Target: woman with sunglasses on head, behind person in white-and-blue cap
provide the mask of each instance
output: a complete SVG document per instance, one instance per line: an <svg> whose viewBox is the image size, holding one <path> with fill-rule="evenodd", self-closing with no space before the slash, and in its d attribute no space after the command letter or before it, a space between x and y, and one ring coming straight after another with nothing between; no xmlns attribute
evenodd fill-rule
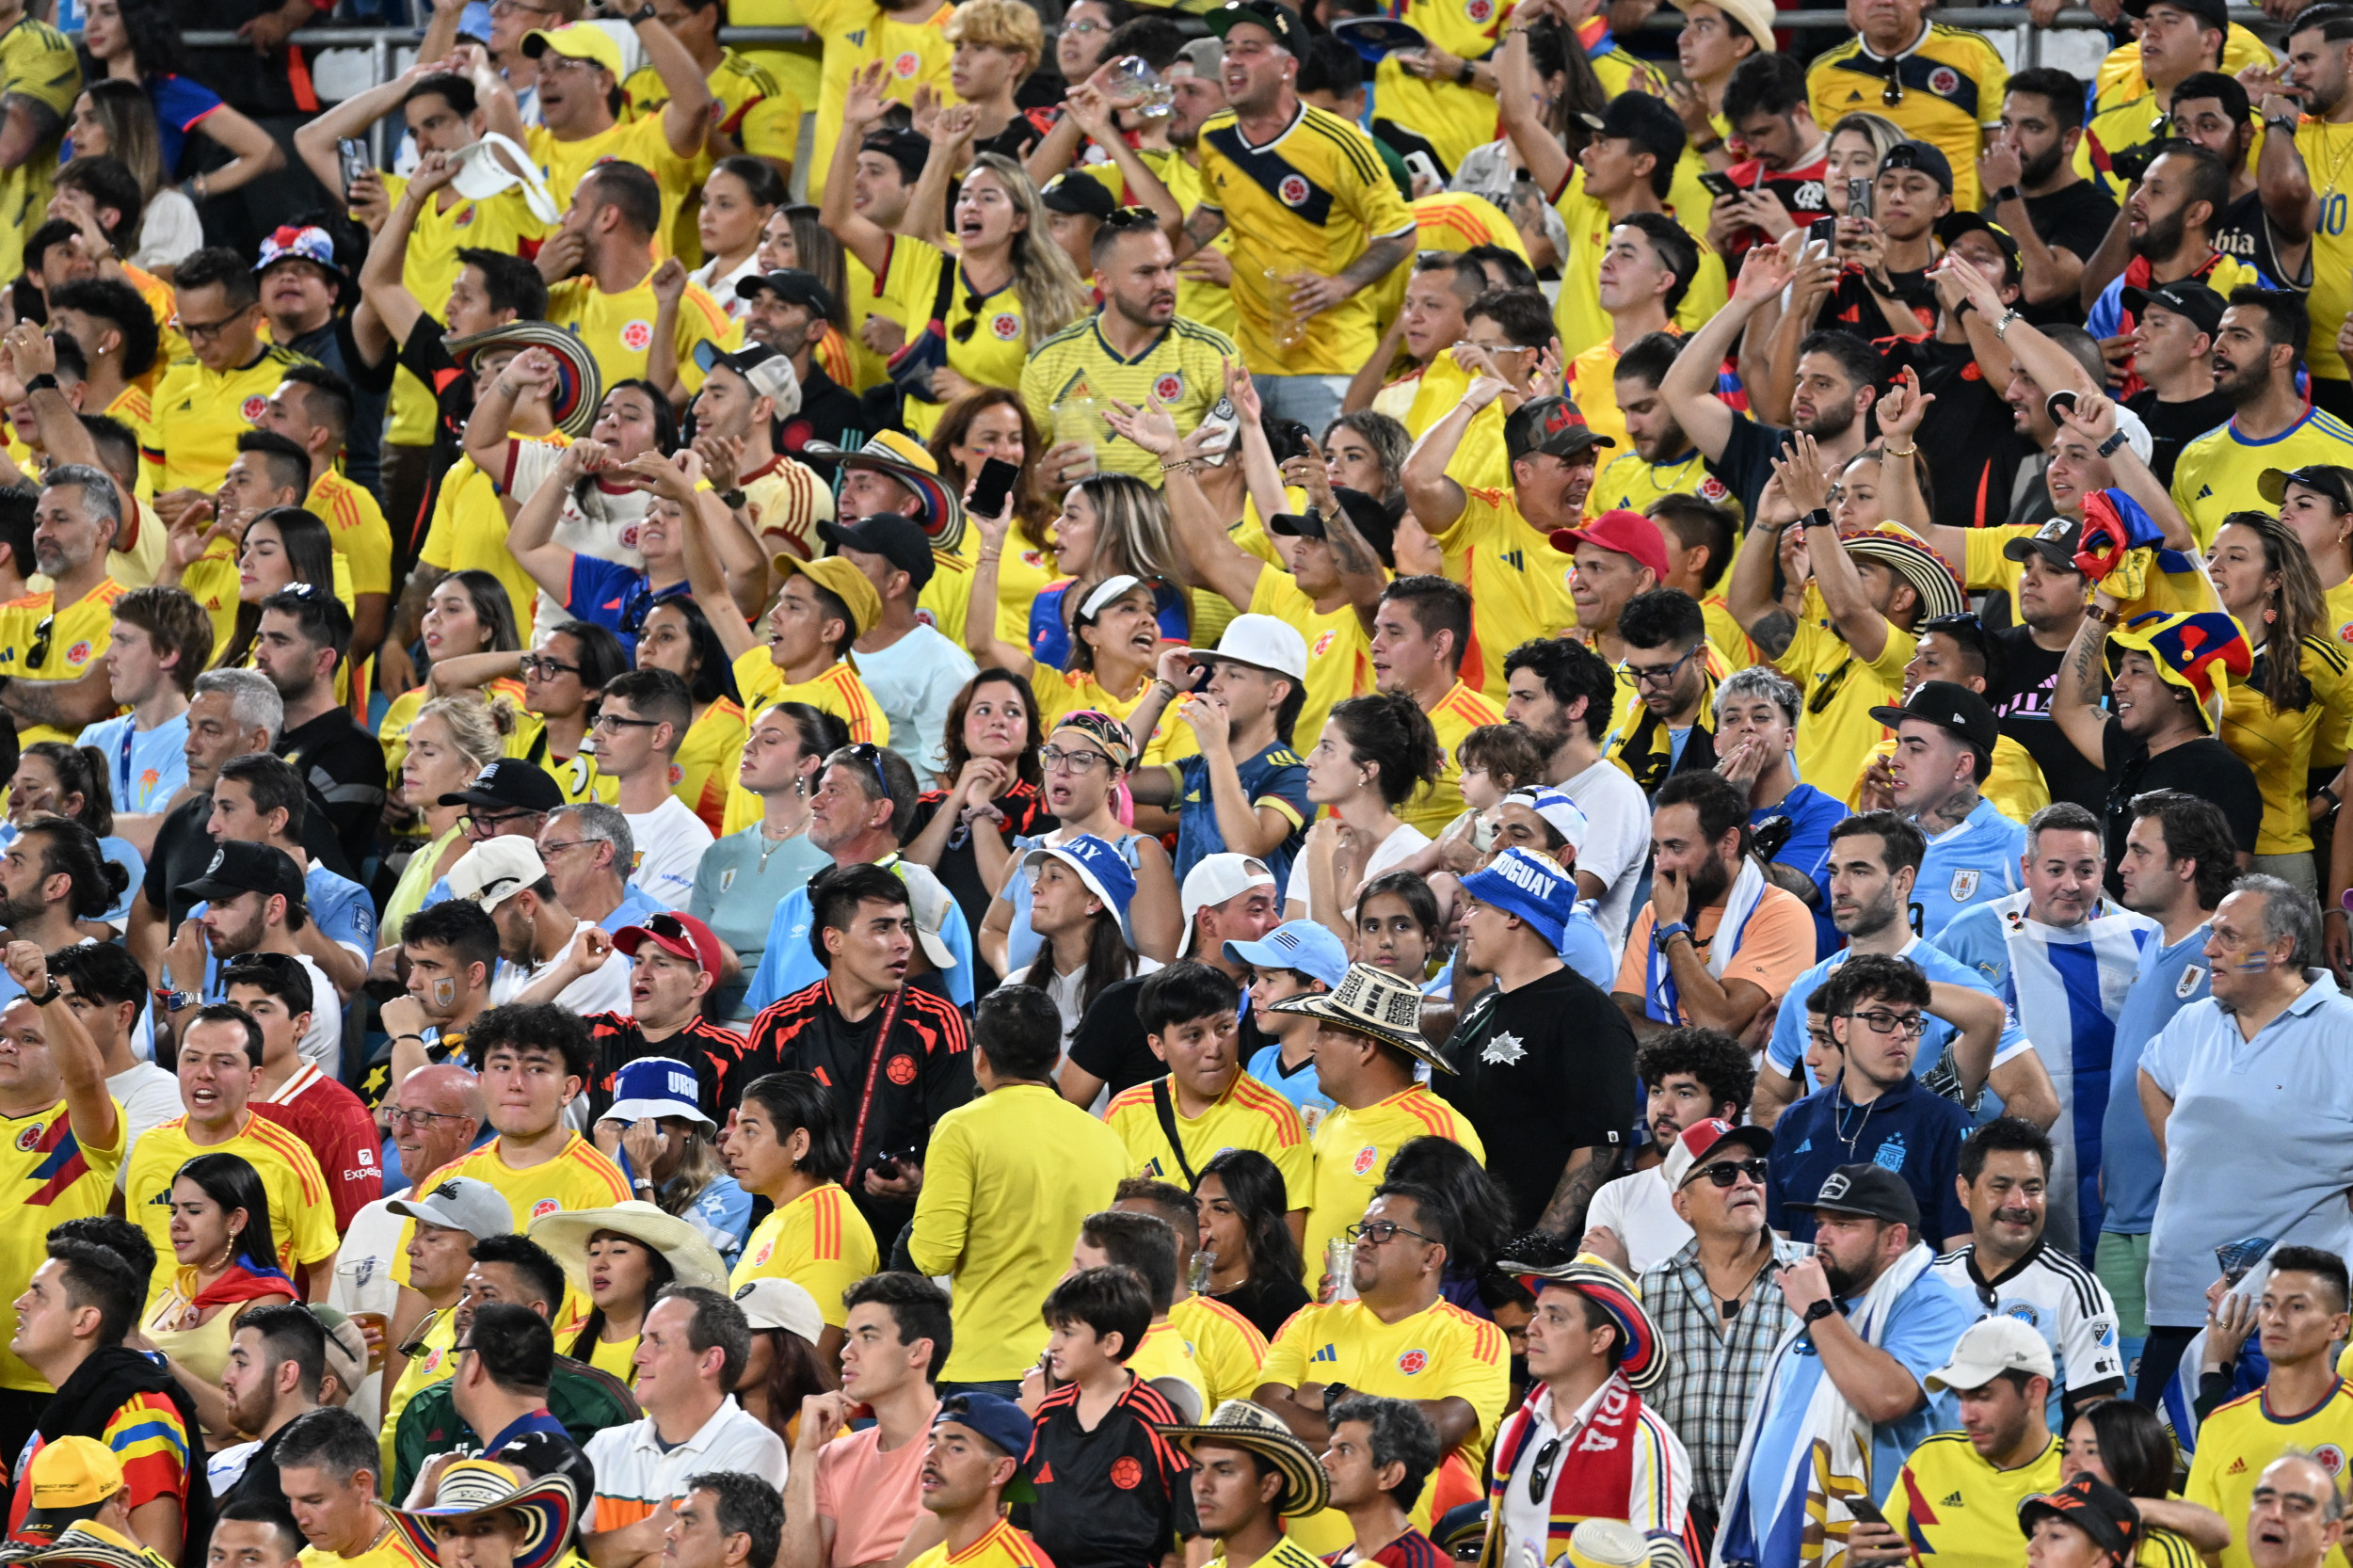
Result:
<svg viewBox="0 0 2353 1568"><path fill-rule="evenodd" d="M1167 850L1151 833L1136 833L1120 822L1115 810L1118 784L1127 777L1134 756L1127 725L1101 709L1064 713L1047 730L1045 746L1038 749L1038 765L1054 829L1014 838L1007 876L998 883L998 897L988 904L981 935L972 944L981 963L998 975L1031 968L1045 946L1031 928L1031 878L1021 876L1021 859L1031 850L1061 848L1080 836L1113 845L1136 878L1136 897L1127 913L1134 949L1158 963L1176 956L1184 916Z"/></svg>

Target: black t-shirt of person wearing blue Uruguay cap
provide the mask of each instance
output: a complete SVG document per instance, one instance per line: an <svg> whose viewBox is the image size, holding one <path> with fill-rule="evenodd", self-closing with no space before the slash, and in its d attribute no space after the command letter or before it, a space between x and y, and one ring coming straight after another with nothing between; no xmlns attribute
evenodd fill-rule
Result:
<svg viewBox="0 0 2353 1568"><path fill-rule="evenodd" d="M1642 1116L1633 1024L1577 970L1489 991L1447 1041L1431 1088L1471 1118L1513 1222L1537 1229L1577 1149L1624 1149Z"/></svg>

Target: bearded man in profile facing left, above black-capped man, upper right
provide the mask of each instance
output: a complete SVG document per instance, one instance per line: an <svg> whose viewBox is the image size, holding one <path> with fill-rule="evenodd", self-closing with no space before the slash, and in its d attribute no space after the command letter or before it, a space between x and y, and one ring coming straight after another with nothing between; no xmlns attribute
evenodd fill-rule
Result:
<svg viewBox="0 0 2353 1568"><path fill-rule="evenodd" d="M2141 391L2141 377L2132 370L2132 327L2139 315L2125 304L2125 290L2202 283L2228 297L2240 285L2266 283L2254 266L2214 247L2214 228L2228 207L2231 170L2221 158L2193 141L2167 144L2118 214L2129 259L2120 271L2108 271L2115 266L2115 247L2101 245L2094 264L2085 266L2085 327L2099 339L2108 379L2120 379L2120 396ZM2297 339L2297 348L2304 348L2304 339ZM2221 374L2221 365L2214 372Z"/></svg>

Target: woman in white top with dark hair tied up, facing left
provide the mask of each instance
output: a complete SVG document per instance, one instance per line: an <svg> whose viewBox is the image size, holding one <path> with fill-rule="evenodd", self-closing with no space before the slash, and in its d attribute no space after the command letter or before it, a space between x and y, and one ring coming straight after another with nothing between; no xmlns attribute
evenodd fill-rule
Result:
<svg viewBox="0 0 2353 1568"><path fill-rule="evenodd" d="M1315 921L1353 946L1355 890L1431 843L1398 808L1442 770L1438 730L1405 692L1337 704L1308 751L1308 803L1325 812L1292 866L1282 918Z"/></svg>

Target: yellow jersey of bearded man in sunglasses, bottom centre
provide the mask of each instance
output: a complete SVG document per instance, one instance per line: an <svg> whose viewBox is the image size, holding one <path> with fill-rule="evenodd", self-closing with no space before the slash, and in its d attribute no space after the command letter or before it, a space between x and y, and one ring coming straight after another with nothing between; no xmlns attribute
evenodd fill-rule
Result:
<svg viewBox="0 0 2353 1568"><path fill-rule="evenodd" d="M1468 1479L1478 1486L1487 1446L1511 1396L1511 1347L1501 1328L1452 1302L1424 1307L1395 1323L1384 1323L1365 1302L1308 1304L1294 1311L1266 1347L1261 1377L1287 1389L1344 1382L1351 1394L1461 1398L1478 1413L1478 1431L1447 1455L1442 1469L1461 1467L1457 1481ZM1428 1509L1438 1481L1431 1476L1414 1502L1412 1519L1421 1530L1431 1528ZM1308 1549L1325 1540L1346 1544L1351 1537L1348 1521L1337 1509L1294 1519L1289 1530Z"/></svg>

